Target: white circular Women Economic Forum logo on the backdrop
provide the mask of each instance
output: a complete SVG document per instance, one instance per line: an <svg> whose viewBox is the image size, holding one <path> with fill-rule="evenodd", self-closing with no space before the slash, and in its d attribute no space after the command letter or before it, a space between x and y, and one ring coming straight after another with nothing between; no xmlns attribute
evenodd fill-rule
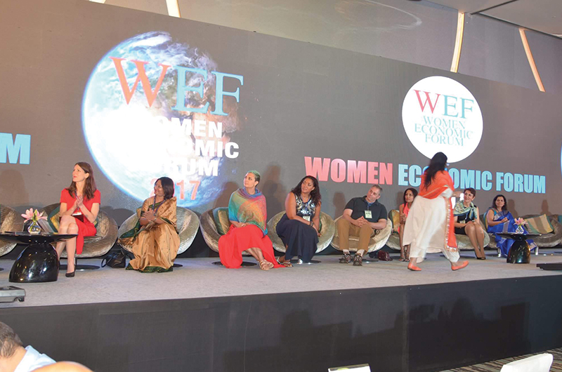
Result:
<svg viewBox="0 0 562 372"><path fill-rule="evenodd" d="M461 161L482 138L476 98L448 77L426 77L414 84L404 98L402 121L412 145L430 159L443 152L450 163Z"/></svg>

